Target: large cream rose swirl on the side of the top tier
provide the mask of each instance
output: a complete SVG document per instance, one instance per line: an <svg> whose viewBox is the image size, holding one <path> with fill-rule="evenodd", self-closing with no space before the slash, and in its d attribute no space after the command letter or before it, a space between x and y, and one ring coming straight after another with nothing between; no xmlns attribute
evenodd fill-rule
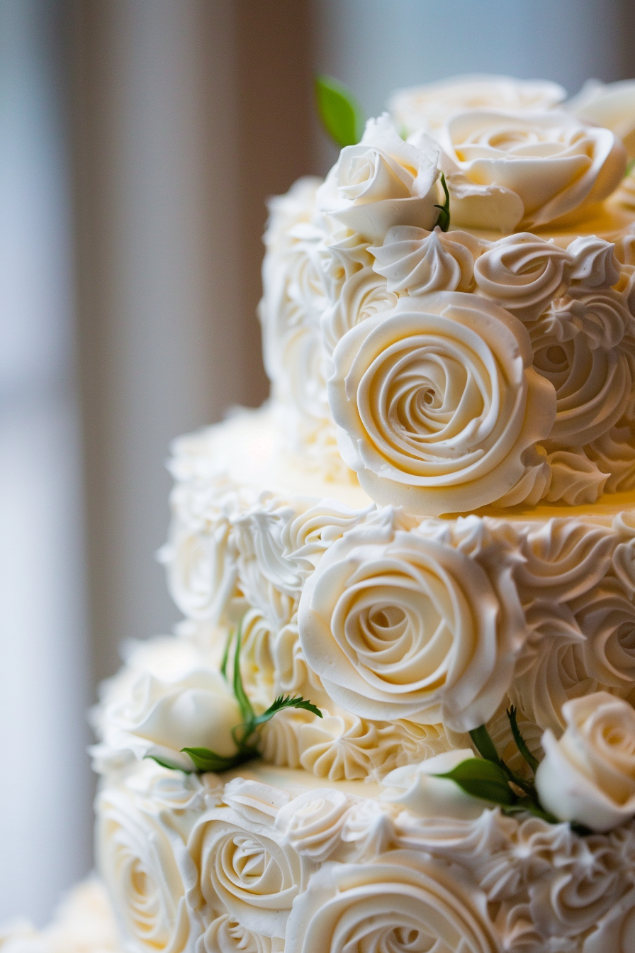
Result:
<svg viewBox="0 0 635 953"><path fill-rule="evenodd" d="M403 298L333 359L340 452L380 503L430 515L491 503L551 430L555 394L531 368L525 328L473 294Z"/></svg>

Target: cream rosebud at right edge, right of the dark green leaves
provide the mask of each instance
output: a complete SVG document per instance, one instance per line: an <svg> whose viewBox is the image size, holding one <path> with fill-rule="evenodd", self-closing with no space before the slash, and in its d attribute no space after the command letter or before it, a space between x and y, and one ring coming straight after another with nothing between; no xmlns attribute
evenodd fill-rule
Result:
<svg viewBox="0 0 635 953"><path fill-rule="evenodd" d="M635 710L596 692L563 705L566 731L543 735L536 789L560 821L605 832L635 815Z"/></svg>

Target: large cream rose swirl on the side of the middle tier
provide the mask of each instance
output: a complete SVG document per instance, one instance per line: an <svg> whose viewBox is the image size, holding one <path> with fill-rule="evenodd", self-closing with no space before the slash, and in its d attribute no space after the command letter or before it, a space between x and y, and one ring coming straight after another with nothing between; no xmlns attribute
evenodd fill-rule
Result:
<svg viewBox="0 0 635 953"><path fill-rule="evenodd" d="M417 531L335 543L300 600L300 639L328 695L361 718L491 718L522 633L475 559Z"/></svg>

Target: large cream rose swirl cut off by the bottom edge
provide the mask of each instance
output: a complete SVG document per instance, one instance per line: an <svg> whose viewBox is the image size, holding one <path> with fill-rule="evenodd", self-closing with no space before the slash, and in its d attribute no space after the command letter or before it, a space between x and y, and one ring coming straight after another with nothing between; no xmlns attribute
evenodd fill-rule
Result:
<svg viewBox="0 0 635 953"><path fill-rule="evenodd" d="M293 906L286 953L496 953L482 894L415 851L327 863Z"/></svg>

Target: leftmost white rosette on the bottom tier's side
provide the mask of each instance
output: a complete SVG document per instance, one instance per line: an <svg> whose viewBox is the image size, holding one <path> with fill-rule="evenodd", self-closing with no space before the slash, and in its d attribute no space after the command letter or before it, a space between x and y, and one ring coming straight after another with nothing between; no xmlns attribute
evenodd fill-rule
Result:
<svg viewBox="0 0 635 953"><path fill-rule="evenodd" d="M100 792L96 813L97 867L126 948L194 953L202 924L190 902L197 872L183 812L121 785Z"/></svg>

